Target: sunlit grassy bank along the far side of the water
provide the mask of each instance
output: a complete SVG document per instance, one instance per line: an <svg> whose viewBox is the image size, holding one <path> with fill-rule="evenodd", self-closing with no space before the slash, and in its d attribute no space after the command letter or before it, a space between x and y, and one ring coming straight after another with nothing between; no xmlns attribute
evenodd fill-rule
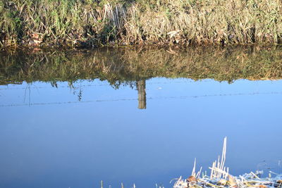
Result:
<svg viewBox="0 0 282 188"><path fill-rule="evenodd" d="M0 0L0 46L280 44L281 0Z"/></svg>

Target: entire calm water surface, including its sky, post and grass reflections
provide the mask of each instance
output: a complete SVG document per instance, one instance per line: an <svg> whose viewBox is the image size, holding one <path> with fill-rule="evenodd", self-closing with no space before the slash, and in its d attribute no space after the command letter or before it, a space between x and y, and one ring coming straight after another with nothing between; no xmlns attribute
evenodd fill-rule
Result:
<svg viewBox="0 0 282 188"><path fill-rule="evenodd" d="M226 166L231 174L282 173L281 63L275 68L259 64L263 70L250 70L258 59L257 63L265 59L279 63L281 56L275 53L280 54L280 49L257 55L251 51L250 56L246 53L250 49L229 51L220 57L232 62L227 68L207 59L215 62L209 64L207 75L195 73L207 69L205 63L195 65L192 73L183 67L176 70L176 65L164 65L164 72L158 64L134 69L130 63L131 72L125 71L128 52L123 51L121 59L113 56L120 52L113 51L85 52L87 59L111 58L103 61L102 70L91 73L83 72L89 67L69 70L85 61L65 52L63 58L47 52L2 54L0 187L86 188L100 187L101 180L104 187L121 187L121 183L124 187L172 187L173 178L191 175L195 158L197 170L202 166L209 174L224 137L228 138ZM199 57L206 59L216 51ZM178 58L183 62L188 56L158 53L168 54L162 55L161 62ZM228 59L244 53L250 62ZM262 53L270 55L263 58ZM49 63L42 63L42 56ZM59 64L54 58L59 58ZM115 68L106 66L109 62ZM134 62L152 59L144 61L139 56ZM64 68L60 63L71 65Z"/></svg>

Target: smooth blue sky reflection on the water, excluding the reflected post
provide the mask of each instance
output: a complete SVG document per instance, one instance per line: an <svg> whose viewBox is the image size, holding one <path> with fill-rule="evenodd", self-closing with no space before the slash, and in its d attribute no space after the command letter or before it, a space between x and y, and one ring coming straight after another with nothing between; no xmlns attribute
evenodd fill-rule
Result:
<svg viewBox="0 0 282 188"><path fill-rule="evenodd" d="M169 187L194 158L207 170L225 136L231 174L266 170L264 160L282 173L280 80L154 78L146 110L130 87L74 86L0 86L0 187Z"/></svg>

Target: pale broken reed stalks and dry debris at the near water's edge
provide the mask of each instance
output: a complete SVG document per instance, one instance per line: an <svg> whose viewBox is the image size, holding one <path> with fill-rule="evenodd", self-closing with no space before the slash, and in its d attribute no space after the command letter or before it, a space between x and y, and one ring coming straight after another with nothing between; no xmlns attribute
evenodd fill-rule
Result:
<svg viewBox="0 0 282 188"><path fill-rule="evenodd" d="M200 177L202 167L199 172L196 173L196 159L194 167L192 169L192 175L187 179L183 179L181 176L176 179L173 188L205 188L205 187L261 187L261 188L282 188L282 175L269 171L269 177L261 178L263 171L257 171L255 173L245 173L244 175L233 176L229 174L229 168L224 166L226 161L226 143L227 138L223 141L223 150L221 158L219 156L217 161L212 163L211 174L203 175ZM271 174L276 177L271 177Z"/></svg>

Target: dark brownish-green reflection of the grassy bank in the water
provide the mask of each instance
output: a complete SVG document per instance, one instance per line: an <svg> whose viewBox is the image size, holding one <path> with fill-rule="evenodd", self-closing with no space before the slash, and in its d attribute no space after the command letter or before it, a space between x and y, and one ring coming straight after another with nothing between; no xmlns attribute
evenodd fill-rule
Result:
<svg viewBox="0 0 282 188"><path fill-rule="evenodd" d="M108 80L121 83L150 77L238 79L282 78L282 51L276 47L228 49L99 49L95 51L17 51L1 54L0 82Z"/></svg>

